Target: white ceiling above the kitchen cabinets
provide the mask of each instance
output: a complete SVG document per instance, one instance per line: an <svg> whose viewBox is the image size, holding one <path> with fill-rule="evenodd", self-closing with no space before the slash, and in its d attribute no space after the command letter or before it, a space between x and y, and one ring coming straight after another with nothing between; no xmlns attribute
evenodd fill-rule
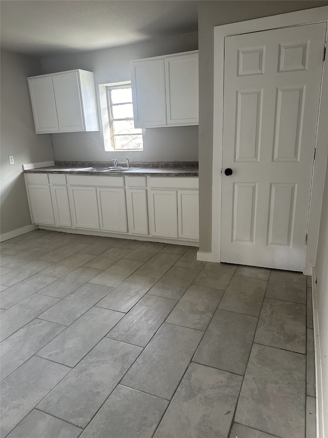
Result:
<svg viewBox="0 0 328 438"><path fill-rule="evenodd" d="M37 56L197 30L189 0L1 0L1 47Z"/></svg>

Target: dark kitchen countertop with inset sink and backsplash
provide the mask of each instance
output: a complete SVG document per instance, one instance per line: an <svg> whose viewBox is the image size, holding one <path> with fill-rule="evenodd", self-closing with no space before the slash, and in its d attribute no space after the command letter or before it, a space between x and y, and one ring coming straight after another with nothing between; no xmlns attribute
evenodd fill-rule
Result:
<svg viewBox="0 0 328 438"><path fill-rule="evenodd" d="M106 165L107 164L107 165ZM71 174L71 175L116 175L116 176L174 176L174 177L198 177L198 163L174 162L174 163L131 163L131 168L126 166L122 169L113 169L112 163L83 163L83 162L56 162L54 166L39 167L24 170L25 173L39 174ZM156 166L158 165L158 167Z"/></svg>

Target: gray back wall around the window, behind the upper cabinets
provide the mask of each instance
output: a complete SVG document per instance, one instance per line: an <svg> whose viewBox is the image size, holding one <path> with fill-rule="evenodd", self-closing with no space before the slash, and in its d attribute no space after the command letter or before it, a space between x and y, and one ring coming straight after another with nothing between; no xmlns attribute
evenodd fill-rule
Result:
<svg viewBox="0 0 328 438"><path fill-rule="evenodd" d="M150 56L178 53L198 48L198 33L153 39L144 43L104 50L51 56L42 59L43 73L81 68L94 73L99 106L98 85L130 80L130 61ZM99 111L100 114L100 111ZM56 160L124 160L127 153L104 150L102 128L99 132L53 134ZM128 153L132 161L197 161L198 126L152 128L144 130L144 150Z"/></svg>

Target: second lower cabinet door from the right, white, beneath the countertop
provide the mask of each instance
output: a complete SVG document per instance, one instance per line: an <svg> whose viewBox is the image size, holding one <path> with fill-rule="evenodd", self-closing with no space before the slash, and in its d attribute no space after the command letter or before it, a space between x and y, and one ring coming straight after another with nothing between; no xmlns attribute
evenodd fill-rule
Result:
<svg viewBox="0 0 328 438"><path fill-rule="evenodd" d="M151 190L149 210L152 236L178 237L176 190Z"/></svg>

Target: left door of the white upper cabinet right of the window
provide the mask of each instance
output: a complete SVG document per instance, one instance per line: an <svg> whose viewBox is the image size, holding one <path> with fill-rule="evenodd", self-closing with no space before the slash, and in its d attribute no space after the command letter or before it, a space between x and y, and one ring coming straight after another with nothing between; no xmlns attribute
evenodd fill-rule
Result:
<svg viewBox="0 0 328 438"><path fill-rule="evenodd" d="M131 68L134 126L166 125L164 59L133 62Z"/></svg>

